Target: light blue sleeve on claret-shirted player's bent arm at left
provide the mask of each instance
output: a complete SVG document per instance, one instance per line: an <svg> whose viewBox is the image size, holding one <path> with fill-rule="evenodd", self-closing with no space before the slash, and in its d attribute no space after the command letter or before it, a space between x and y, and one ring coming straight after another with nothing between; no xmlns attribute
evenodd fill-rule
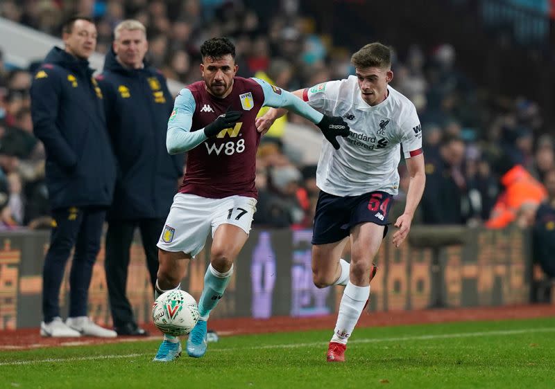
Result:
<svg viewBox="0 0 555 389"><path fill-rule="evenodd" d="M166 147L169 154L187 152L207 140L203 130L191 132L196 102L189 89L182 89L168 120Z"/></svg>

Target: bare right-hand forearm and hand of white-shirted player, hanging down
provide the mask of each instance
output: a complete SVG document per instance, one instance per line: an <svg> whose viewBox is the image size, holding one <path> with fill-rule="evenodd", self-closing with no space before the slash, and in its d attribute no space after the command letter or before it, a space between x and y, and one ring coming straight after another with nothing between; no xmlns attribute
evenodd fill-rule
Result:
<svg viewBox="0 0 555 389"><path fill-rule="evenodd" d="M422 199L422 193L424 193L424 187L426 185L424 155L419 154L417 156L412 156L411 158L405 159L405 161L407 162L407 170L409 170L411 181L409 182L407 203L404 206L404 212L397 218L397 221L395 221L395 227L399 228L395 231L395 234L393 234L393 244L395 244L395 247L399 247L407 235L409 235L414 212L416 211L418 203L420 203L420 199Z"/></svg>

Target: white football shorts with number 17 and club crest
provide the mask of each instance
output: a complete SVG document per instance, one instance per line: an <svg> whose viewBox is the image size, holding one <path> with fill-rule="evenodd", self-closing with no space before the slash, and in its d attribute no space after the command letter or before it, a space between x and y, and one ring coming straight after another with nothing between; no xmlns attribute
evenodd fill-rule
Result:
<svg viewBox="0 0 555 389"><path fill-rule="evenodd" d="M194 257L203 249L208 233L212 237L221 224L233 224L250 232L256 212L253 197L230 196L207 199L190 193L178 193L166 219L157 246L165 251L183 251Z"/></svg>

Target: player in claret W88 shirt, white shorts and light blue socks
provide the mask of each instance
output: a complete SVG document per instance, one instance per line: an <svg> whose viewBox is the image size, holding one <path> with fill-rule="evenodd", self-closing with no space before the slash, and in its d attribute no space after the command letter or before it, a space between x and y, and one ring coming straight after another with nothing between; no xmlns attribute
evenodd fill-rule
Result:
<svg viewBox="0 0 555 389"><path fill-rule="evenodd" d="M200 320L187 340L187 354L197 358L206 352L206 320L230 282L233 261L256 210L259 109L283 107L317 123L336 148L336 136L349 134L341 117L325 116L262 80L236 77L235 48L228 39L209 39L200 53L203 80L180 91L168 123L168 152L188 152L187 172L157 244L160 268L155 288L156 297L179 288L186 260L203 249L212 232L210 266L198 301ZM179 338L166 335L154 361L173 361L180 353Z"/></svg>

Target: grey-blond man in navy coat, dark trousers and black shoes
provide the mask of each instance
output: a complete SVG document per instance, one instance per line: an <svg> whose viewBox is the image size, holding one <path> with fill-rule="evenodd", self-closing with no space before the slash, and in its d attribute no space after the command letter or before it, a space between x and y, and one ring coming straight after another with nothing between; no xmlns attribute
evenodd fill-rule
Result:
<svg viewBox="0 0 555 389"><path fill-rule="evenodd" d="M139 227L154 288L156 243L183 170L183 156L171 156L166 149L173 98L164 76L144 62L147 48L144 26L136 20L122 21L114 30L114 44L98 78L119 168L114 202L108 211L105 262L110 307L119 335L146 335L137 326L126 297L130 246Z"/></svg>

